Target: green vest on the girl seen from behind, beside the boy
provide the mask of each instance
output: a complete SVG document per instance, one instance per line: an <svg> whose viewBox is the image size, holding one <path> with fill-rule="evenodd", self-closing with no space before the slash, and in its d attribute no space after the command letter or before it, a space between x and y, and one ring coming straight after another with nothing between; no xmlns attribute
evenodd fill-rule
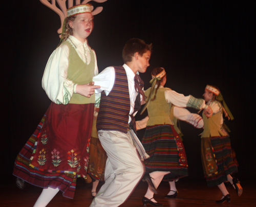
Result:
<svg viewBox="0 0 256 207"><path fill-rule="evenodd" d="M156 89L154 89L156 90ZM170 107L172 103L167 103L164 91L168 88L158 88L156 99L150 101L147 106L147 112L150 119L147 121L147 126L154 126L157 124L170 124L173 125L173 121L169 117ZM150 94L150 88L145 91L145 96ZM155 91L153 92L152 98L155 96Z"/></svg>

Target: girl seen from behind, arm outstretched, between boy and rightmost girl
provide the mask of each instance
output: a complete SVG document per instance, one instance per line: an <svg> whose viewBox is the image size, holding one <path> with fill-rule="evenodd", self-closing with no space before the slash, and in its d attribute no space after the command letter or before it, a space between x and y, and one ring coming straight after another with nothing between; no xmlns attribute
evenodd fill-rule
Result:
<svg viewBox="0 0 256 207"><path fill-rule="evenodd" d="M155 68L152 72L152 87L145 91L147 101L142 112L147 108L149 119L142 139L142 144L150 158L144 160L146 174L143 180L148 182L148 189L142 201L154 206L161 206L156 202L154 193L163 177L170 182L170 192L167 197L176 197L175 180L187 176L187 159L181 137L170 119L170 108L194 107L205 109L211 113L209 106L203 99L184 96L176 91L165 88L166 73L164 68Z"/></svg>

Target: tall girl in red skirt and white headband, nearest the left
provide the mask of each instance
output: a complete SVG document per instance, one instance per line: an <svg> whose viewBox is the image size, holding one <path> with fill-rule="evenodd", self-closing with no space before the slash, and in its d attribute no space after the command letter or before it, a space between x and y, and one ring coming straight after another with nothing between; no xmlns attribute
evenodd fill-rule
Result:
<svg viewBox="0 0 256 207"><path fill-rule="evenodd" d="M94 112L95 52L87 37L93 30L91 5L67 10L61 42L52 53L42 87L52 103L15 160L17 185L44 188L34 206L46 206L60 190L74 197L76 178L86 177ZM26 182L25 182L26 181Z"/></svg>

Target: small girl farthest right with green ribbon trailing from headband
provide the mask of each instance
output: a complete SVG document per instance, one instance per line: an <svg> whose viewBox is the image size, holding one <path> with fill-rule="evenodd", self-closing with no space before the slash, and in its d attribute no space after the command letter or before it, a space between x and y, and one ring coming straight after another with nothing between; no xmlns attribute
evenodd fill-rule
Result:
<svg viewBox="0 0 256 207"><path fill-rule="evenodd" d="M230 202L224 181L228 180L239 196L243 192L240 181L230 175L237 172L237 165L232 159L229 136L222 131L222 114L224 113L225 117L231 120L233 116L216 86L206 85L203 97L212 109L212 114L203 112L204 131L201 136L202 164L207 186L220 188L223 196L216 201L217 203Z"/></svg>

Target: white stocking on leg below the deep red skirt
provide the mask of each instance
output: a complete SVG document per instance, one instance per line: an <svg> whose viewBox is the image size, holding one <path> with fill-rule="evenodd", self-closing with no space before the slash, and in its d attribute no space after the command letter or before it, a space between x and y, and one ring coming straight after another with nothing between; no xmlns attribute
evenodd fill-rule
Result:
<svg viewBox="0 0 256 207"><path fill-rule="evenodd" d="M37 201L34 204L34 207L45 207L53 199L53 197L59 192L59 189L56 188L46 188L43 189L40 196L37 198Z"/></svg>

